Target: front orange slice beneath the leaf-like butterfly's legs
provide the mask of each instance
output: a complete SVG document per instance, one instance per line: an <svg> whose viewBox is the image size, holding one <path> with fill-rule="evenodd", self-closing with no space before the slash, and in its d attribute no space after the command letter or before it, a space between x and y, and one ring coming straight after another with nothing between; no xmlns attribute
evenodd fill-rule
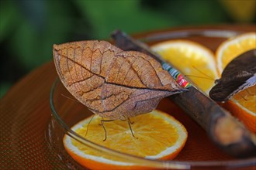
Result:
<svg viewBox="0 0 256 170"><path fill-rule="evenodd" d="M105 131L101 125L101 117L86 118L75 124L73 131L88 141L129 155L150 159L171 159L182 150L187 139L184 126L160 110L141 114L132 118L131 124L134 137L127 121L104 122ZM87 131L88 128L88 131ZM85 134L87 135L85 136ZM64 148L74 160L92 169L137 169L140 165L131 163L125 158L108 155L81 144L67 134L64 136Z"/></svg>

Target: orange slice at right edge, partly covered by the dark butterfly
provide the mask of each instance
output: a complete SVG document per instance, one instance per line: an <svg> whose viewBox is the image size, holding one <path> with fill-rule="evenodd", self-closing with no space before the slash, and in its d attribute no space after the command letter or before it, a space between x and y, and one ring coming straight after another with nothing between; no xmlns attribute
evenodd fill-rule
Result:
<svg viewBox="0 0 256 170"><path fill-rule="evenodd" d="M235 57L250 49L256 48L256 33L248 32L227 39L216 50L217 66L220 73L225 66ZM240 91L234 97L224 104L235 117L239 118L249 130L256 133L256 90L250 87Z"/></svg>

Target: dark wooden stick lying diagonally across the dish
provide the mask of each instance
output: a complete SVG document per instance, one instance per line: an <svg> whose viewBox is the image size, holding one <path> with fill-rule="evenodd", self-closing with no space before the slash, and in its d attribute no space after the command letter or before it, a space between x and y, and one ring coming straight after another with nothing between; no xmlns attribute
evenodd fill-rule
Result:
<svg viewBox="0 0 256 170"><path fill-rule="evenodd" d="M124 32L113 32L112 39L115 40L116 46L123 50L147 53L158 62L164 62L161 56L153 53L146 44L127 36ZM189 87L188 92L169 98L189 114L223 151L237 158L256 156L256 135L195 87Z"/></svg>

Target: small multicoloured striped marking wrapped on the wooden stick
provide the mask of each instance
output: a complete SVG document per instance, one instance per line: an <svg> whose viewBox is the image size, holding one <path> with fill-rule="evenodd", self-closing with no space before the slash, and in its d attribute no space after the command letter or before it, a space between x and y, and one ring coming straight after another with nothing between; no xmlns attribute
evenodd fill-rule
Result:
<svg viewBox="0 0 256 170"><path fill-rule="evenodd" d="M162 63L162 67L164 70L167 70L171 76L176 80L176 82L184 88L191 87L191 83L189 83L185 78L182 76L181 73L178 72L175 68L170 66L168 63Z"/></svg>

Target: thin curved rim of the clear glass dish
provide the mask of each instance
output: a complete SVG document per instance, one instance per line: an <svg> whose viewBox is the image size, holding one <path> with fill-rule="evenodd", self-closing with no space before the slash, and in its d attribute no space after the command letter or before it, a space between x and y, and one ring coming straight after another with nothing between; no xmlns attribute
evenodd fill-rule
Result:
<svg viewBox="0 0 256 170"><path fill-rule="evenodd" d="M240 32L243 31L230 31L229 36L220 36L224 35L223 33L228 32L228 30L220 29L206 29L205 31L202 30L194 30L192 31L192 34L189 34L192 30L180 30L180 31L171 31L171 32L165 32L169 34L168 39L176 39L180 38L181 36L175 36L175 33L179 32L179 35L184 35L182 38L189 37L189 36L204 36L204 37L216 37L216 38L229 38L231 35L237 35ZM182 33L183 32L183 33ZM144 38L139 38L143 40L144 42L154 42L157 40L164 40L162 36L157 36L159 34L155 34L156 36L154 37L154 33L151 34L151 36L144 36ZM164 35L164 33L163 33ZM219 35L219 36L216 36ZM150 37L153 37L153 39L150 39ZM255 165L256 158L244 158L244 159L238 159L234 158L234 160L225 160L225 161L175 161L175 160L155 160L155 159L147 159L147 158L140 158L134 155L129 155L126 153L122 153L119 151L114 151L112 149L103 147L101 145L97 145L93 143L92 141L88 141L85 138L82 138L79 134L76 134L74 131L72 131L67 124L61 119L61 117L57 114L57 110L55 110L54 107L54 91L56 90L57 83L61 83L61 80L57 77L57 79L54 81L51 89L50 89L50 110L52 111L52 116L54 117L55 121L57 121L58 124L61 125L61 128L64 128L66 131L65 133L69 135L71 138L74 138L77 141L80 141L84 145L87 145L89 147L92 147L94 149L100 150L100 151L105 151L108 154L116 155L116 156L121 156L123 158L127 158L128 160L134 160L138 165L147 165L150 166L152 165L153 167L158 167L158 168L164 168L164 166L167 166L168 168L182 168L182 169L190 169L192 167L228 167L228 168L239 168L239 167L244 167L244 166L251 166Z"/></svg>

